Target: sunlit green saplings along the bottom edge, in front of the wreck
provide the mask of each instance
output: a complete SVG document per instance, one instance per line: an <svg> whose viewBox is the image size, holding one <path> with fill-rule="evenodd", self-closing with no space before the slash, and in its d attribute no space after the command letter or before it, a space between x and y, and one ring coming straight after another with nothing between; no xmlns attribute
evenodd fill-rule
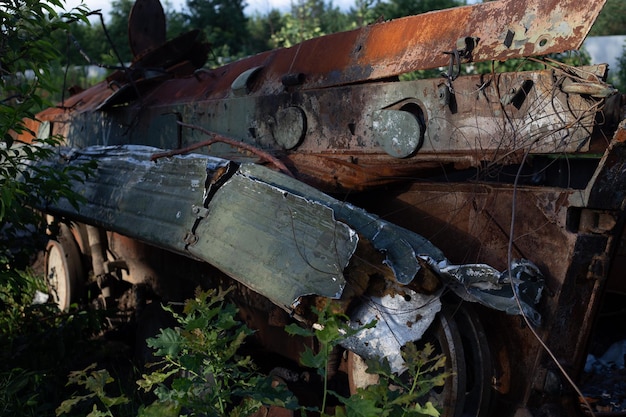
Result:
<svg viewBox="0 0 626 417"><path fill-rule="evenodd" d="M420 403L420 398L442 386L448 377L443 372L445 358L435 355L429 344L423 350L412 344L405 347L403 356L409 369L402 378L394 375L386 362L371 361L372 373L380 377L377 385L361 388L347 398L329 390L327 370L332 349L361 330L352 329L345 316L331 313L330 304L316 311L317 323L312 329L296 324L286 329L291 335L315 338L319 344L315 351L306 348L301 365L321 377L322 403L319 407L298 404L285 384L261 374L252 358L241 354L253 332L238 320L237 309L226 301L227 294L222 290L197 291L180 314L166 307L177 326L162 329L148 340L157 360L137 385L151 394L152 400L143 397L145 405L137 407L137 416L249 416L270 405L321 416L439 416L433 404ZM81 393L63 401L56 415L76 415L78 410L93 417L135 415L128 409L129 403L138 403L129 399L132 390L126 394L111 390L114 382L107 370L96 370L95 364L72 372L68 384L81 387ZM116 394L109 394L111 391ZM343 406L327 408L329 396Z"/></svg>

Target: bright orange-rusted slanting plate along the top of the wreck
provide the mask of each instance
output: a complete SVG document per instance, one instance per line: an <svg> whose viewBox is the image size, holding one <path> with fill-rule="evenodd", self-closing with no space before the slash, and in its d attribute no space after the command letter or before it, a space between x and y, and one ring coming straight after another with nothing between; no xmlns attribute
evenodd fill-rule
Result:
<svg viewBox="0 0 626 417"><path fill-rule="evenodd" d="M377 23L311 39L210 71L207 90L227 92L245 70L262 67L256 93L286 89L283 77L297 77L298 89L352 84L419 69L447 66L459 39L477 37L473 61L505 60L575 50L604 0L501 0Z"/></svg>

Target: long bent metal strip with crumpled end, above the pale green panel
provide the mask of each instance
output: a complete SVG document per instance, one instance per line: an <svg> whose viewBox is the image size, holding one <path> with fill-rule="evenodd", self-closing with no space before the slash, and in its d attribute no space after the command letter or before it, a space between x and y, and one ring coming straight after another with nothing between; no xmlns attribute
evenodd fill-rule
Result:
<svg viewBox="0 0 626 417"><path fill-rule="evenodd" d="M508 314L523 312L531 322L537 325L541 323L541 316L534 306L541 299L544 279L541 271L530 261L513 262L510 273L500 272L484 264L453 265L439 248L417 233L259 165L246 164L241 169L251 177L262 178L276 187L331 207L338 220L348 224L385 254L385 264L400 284L409 284L422 265L428 265L462 299L479 302ZM511 281L520 298L521 311L512 293Z"/></svg>

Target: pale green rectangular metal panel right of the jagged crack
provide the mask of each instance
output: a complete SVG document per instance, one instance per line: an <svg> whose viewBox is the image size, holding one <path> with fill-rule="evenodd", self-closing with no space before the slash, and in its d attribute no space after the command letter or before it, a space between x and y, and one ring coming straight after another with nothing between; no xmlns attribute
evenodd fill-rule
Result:
<svg viewBox="0 0 626 417"><path fill-rule="evenodd" d="M358 237L331 208L239 171L207 209L191 255L285 309L304 295L341 296Z"/></svg>

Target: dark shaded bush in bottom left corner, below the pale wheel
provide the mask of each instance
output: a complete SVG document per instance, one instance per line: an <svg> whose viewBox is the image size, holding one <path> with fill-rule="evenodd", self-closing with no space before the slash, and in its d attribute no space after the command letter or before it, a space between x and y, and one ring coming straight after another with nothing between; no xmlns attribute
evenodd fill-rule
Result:
<svg viewBox="0 0 626 417"><path fill-rule="evenodd" d="M53 416L69 395L59 386L77 359L93 350L90 339L101 330L103 317L33 303L34 295L46 290L43 279L21 271L15 276L0 286L0 415Z"/></svg>

